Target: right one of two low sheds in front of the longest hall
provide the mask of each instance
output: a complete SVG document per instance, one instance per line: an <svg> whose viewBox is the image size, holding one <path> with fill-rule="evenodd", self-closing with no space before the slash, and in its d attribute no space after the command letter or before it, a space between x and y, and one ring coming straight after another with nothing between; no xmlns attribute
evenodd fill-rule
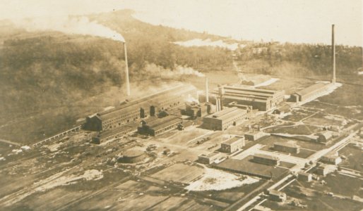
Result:
<svg viewBox="0 0 363 211"><path fill-rule="evenodd" d="M138 127L138 133L150 136L158 136L165 132L169 132L172 129L181 127L182 123L183 120L175 115L169 115L162 118L150 118L147 121L141 121L141 127Z"/></svg>

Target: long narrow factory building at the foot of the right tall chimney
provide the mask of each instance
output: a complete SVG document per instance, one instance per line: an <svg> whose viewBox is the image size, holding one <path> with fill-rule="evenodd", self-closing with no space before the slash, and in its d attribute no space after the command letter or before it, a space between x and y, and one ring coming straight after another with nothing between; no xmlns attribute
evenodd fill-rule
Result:
<svg viewBox="0 0 363 211"><path fill-rule="evenodd" d="M309 101L325 93L330 86L331 84L323 84L323 83L313 84L310 87L307 87L292 94L291 100L294 102Z"/></svg>

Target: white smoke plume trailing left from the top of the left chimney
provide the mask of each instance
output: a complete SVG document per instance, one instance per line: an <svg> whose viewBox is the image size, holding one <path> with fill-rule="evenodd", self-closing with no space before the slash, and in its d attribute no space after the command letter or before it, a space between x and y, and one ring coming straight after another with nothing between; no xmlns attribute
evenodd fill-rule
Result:
<svg viewBox="0 0 363 211"><path fill-rule="evenodd" d="M90 22L90 20L86 17L69 18L69 16L64 16L27 18L22 20L13 20L13 23L29 32L53 30L66 34L91 35L125 42L124 37L122 37L122 35L118 32L115 32L104 25L100 25L99 23Z"/></svg>

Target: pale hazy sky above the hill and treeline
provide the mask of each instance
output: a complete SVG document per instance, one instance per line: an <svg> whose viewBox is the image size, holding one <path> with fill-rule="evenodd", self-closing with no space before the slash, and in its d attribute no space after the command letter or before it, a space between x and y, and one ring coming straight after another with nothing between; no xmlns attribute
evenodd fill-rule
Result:
<svg viewBox="0 0 363 211"><path fill-rule="evenodd" d="M235 39L362 46L362 0L0 0L0 18L131 8L148 23Z"/></svg>

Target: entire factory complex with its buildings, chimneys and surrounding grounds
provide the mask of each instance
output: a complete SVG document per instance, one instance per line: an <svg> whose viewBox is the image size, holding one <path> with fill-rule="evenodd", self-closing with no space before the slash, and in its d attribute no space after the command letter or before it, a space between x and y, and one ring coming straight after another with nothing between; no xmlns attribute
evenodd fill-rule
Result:
<svg viewBox="0 0 363 211"><path fill-rule="evenodd" d="M331 82L294 89L208 84L203 76L199 89L179 83L136 97L126 44L124 51L126 100L30 149L0 155L0 162L14 158L1 175L32 166L16 188L4 182L1 207L49 200L42 210L362 208L362 188L352 182L363 179L363 123L316 100L335 86L335 63Z"/></svg>

